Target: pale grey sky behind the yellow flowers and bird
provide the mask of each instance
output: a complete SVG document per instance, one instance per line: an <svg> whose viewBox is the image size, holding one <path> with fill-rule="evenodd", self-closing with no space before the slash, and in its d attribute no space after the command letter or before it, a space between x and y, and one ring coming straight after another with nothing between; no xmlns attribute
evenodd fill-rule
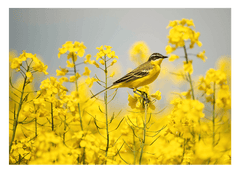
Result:
<svg viewBox="0 0 240 173"><path fill-rule="evenodd" d="M222 55L232 57L232 8L225 7L77 7L77 8L9 8L8 9L8 49L14 49L18 54L22 50L37 54L48 65L48 76L56 76L59 66L66 67L66 56L58 59L58 48L66 41L84 42L86 54L92 59L97 53L96 47L110 45L116 52L121 72L113 77L113 81L126 74L128 69L136 66L129 58L129 49L136 41L144 41L151 53L159 52L166 55L168 43L166 29L170 20L182 18L193 19L196 31L201 33L199 40L203 46L188 53L197 54L205 49L207 61L204 63L195 56L193 59L193 78L205 75L209 68L214 68L216 60ZM184 55L183 49L175 54ZM83 59L78 60L82 62ZM183 59L174 62L164 60L162 67L169 71L182 65ZM88 65L91 76L100 70ZM171 68L170 68L171 67ZM81 69L82 68L82 69ZM84 66L79 66L81 74ZM99 75L101 77L101 75ZM36 82L39 88L40 81ZM173 78L160 77L153 91L160 88L162 100L156 104L163 107L169 104L167 93L178 90L187 91L188 85L174 86ZM151 85L150 85L151 86ZM159 88L158 88L159 86ZM102 88L94 83L92 88L96 93ZM130 89L119 89L114 104L127 106L127 92Z"/></svg>

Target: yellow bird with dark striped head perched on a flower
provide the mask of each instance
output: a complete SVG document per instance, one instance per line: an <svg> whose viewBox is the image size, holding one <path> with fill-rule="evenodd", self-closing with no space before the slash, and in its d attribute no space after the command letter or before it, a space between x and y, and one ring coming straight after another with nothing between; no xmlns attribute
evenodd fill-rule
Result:
<svg viewBox="0 0 240 173"><path fill-rule="evenodd" d="M160 66L164 58L167 58L167 56L163 56L160 53L153 53L147 62L141 64L122 78L113 82L111 86L93 95L91 98L109 89L128 87L135 91L140 86L152 83L157 79L160 73Z"/></svg>

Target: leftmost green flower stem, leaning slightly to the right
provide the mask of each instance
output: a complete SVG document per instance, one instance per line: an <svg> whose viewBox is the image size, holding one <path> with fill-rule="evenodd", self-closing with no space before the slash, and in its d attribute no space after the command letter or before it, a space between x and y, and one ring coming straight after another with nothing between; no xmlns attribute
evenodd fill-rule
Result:
<svg viewBox="0 0 240 173"><path fill-rule="evenodd" d="M27 69L27 72L29 71L29 67ZM13 134L12 134L12 139L11 139L11 142L9 144L9 153L11 151L11 148L12 148L12 144L13 144L13 141L15 139L15 135L16 135L16 131L17 131L17 125L18 125L18 117L19 117L19 113L20 113L20 110L22 108L22 104L23 104L23 94L24 94L24 89L25 89L25 86L26 86L26 81L27 81L27 76L25 76L24 78L24 82L23 82L23 87L22 87L22 92L21 92L21 96L20 96L20 102L19 102L19 106L18 106L18 111L17 111L17 115L15 116L14 118L14 123L13 123Z"/></svg>

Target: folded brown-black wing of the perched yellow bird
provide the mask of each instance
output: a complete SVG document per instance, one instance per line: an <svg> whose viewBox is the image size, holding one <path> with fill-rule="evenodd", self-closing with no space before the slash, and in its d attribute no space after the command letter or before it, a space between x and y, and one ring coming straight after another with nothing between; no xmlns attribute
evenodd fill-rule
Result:
<svg viewBox="0 0 240 173"><path fill-rule="evenodd" d="M149 62L146 62L137 68L135 68L133 71L129 72L122 78L118 79L117 81L113 82L113 85L122 83L122 82L130 82L139 78L142 78L144 76L147 76L149 74L149 71L153 68L152 65L149 64Z"/></svg>

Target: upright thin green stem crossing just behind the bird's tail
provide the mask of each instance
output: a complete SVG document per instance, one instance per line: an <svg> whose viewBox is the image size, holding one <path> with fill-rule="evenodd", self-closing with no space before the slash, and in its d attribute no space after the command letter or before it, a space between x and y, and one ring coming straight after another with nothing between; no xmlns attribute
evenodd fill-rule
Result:
<svg viewBox="0 0 240 173"><path fill-rule="evenodd" d="M106 55L104 56L104 62L105 62L105 88L107 88L107 61L106 61ZM107 113L107 108L108 108L108 102L107 102L107 91L105 91L104 95L104 102L105 102L105 117L106 117L106 132L107 132L107 146L106 146L106 153L105 156L107 157L108 153L108 148L109 148L109 131L108 131L108 113Z"/></svg>

